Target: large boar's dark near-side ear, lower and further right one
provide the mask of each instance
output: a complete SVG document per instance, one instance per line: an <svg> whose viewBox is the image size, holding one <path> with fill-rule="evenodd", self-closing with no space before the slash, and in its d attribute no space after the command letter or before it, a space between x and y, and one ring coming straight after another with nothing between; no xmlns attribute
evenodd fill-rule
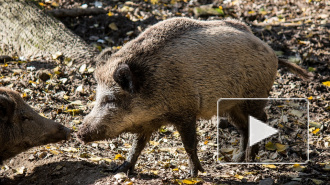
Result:
<svg viewBox="0 0 330 185"><path fill-rule="evenodd" d="M113 78L125 91L136 92L137 87L134 86L134 77L127 64L119 65L113 74Z"/></svg>

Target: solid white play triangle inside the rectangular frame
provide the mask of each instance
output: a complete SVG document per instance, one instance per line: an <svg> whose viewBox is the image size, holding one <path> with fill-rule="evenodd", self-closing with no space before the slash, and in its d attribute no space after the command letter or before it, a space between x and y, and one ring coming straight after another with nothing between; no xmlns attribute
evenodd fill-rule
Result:
<svg viewBox="0 0 330 185"><path fill-rule="evenodd" d="M277 129L249 116L249 146L253 146L276 133L278 133Z"/></svg>

